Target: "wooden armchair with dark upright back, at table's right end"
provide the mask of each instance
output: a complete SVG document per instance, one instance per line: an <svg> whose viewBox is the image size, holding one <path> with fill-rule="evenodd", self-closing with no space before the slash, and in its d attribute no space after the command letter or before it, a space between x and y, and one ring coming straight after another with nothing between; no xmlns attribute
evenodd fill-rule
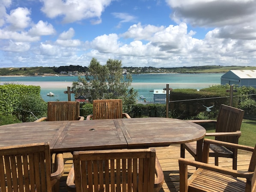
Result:
<svg viewBox="0 0 256 192"><path fill-rule="evenodd" d="M205 136L215 136L215 140L238 144L241 136L241 124L244 117L244 110L235 107L221 105L217 121L214 120L189 120L194 123L215 123L215 133L206 133ZM196 154L196 142L181 144L181 157L185 158L185 149L198 160ZM215 157L215 165L218 165L218 157L233 159L233 169L237 168L237 149L221 146L210 146L210 157Z"/></svg>

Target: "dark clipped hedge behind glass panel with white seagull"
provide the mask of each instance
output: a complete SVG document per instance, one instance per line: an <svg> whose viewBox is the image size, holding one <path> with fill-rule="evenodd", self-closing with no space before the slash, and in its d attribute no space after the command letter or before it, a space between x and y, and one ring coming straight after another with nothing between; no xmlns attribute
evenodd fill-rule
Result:
<svg viewBox="0 0 256 192"><path fill-rule="evenodd" d="M227 92L229 89L229 85L214 85L199 91L196 89L173 89L170 94L169 108L173 111L172 114L175 115L175 118L216 119L220 105L229 105L230 93ZM233 95L239 96L240 91L234 92ZM238 107L238 103L239 97L233 97L233 106ZM205 106L213 105L214 108L210 113L205 111Z"/></svg>

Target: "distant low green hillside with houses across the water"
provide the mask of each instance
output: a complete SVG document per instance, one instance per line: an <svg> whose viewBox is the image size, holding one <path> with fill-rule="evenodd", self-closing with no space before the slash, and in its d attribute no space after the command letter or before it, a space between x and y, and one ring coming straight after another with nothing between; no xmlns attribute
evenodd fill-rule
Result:
<svg viewBox="0 0 256 192"><path fill-rule="evenodd" d="M123 67L124 72L131 74L140 73L225 73L229 70L256 70L256 67L243 66L216 66L206 65L198 67L179 68L154 68L154 67ZM88 71L87 67L79 65L69 65L60 67L30 67L30 68L0 68L0 75L55 75L55 74L75 74L84 75Z"/></svg>

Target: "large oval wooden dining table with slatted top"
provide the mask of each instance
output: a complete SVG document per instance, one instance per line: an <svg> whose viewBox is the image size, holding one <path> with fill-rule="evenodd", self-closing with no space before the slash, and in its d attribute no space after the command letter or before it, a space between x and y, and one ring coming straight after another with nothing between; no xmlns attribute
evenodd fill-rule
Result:
<svg viewBox="0 0 256 192"><path fill-rule="evenodd" d="M205 129L173 118L43 121L0 126L0 146L50 142L51 152L149 148L197 141L199 157Z"/></svg>

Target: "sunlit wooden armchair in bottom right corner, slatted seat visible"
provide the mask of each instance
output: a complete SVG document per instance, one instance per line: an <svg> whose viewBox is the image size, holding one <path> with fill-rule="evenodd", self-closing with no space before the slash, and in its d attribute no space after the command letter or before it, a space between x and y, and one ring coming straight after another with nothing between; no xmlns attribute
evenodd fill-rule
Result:
<svg viewBox="0 0 256 192"><path fill-rule="evenodd" d="M210 145L225 146L246 151L253 151L248 171L236 171L230 168L209 165ZM188 178L188 165L197 170ZM256 192L256 145L248 147L228 142L205 139L203 162L179 159L180 192ZM237 177L245 178L246 181Z"/></svg>

